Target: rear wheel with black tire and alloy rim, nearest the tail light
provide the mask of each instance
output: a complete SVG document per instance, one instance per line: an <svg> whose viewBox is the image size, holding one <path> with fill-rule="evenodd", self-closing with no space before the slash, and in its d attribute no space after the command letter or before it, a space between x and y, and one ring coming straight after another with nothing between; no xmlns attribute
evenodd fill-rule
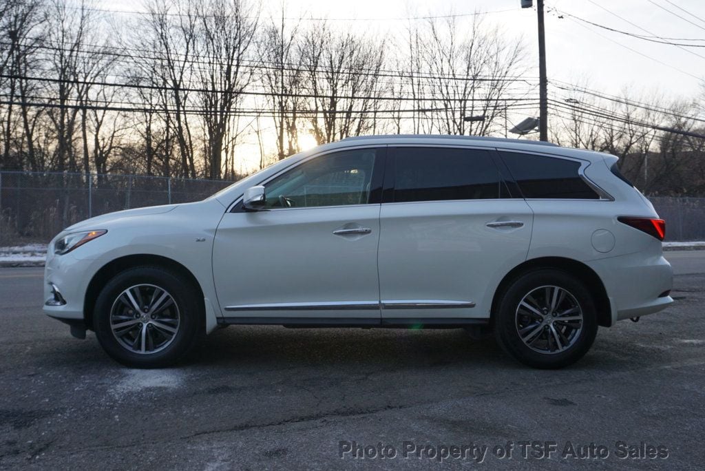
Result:
<svg viewBox="0 0 705 471"><path fill-rule="evenodd" d="M539 269L505 288L494 324L497 342L509 355L531 367L555 369L587 353L597 334L597 312L582 281L565 271Z"/></svg>

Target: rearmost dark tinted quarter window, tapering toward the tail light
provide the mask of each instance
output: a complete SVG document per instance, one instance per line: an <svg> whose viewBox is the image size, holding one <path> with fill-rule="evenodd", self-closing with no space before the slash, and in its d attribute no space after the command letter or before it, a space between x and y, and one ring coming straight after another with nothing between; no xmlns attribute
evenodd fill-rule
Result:
<svg viewBox="0 0 705 471"><path fill-rule="evenodd" d="M576 161L518 152L501 155L525 198L599 199L580 178Z"/></svg>

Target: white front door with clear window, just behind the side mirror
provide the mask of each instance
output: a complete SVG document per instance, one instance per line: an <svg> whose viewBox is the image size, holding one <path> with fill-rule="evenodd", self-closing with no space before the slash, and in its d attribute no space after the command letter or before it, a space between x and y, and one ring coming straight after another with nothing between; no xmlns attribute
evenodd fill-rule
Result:
<svg viewBox="0 0 705 471"><path fill-rule="evenodd" d="M385 152L364 147L308 159L262 183L263 210L236 204L223 216L213 275L224 316L379 323Z"/></svg>

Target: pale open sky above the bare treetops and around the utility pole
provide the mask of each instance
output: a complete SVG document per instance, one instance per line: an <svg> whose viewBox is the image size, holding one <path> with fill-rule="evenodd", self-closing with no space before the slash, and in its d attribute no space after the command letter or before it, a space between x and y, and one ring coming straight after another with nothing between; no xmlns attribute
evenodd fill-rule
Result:
<svg viewBox="0 0 705 471"><path fill-rule="evenodd" d="M142 0L95 1L109 10L144 11ZM288 18L328 18L334 25L378 37L403 34L410 17L454 14L470 20L479 13L487 26L524 40L532 66L529 74L538 75L537 13L535 8L520 8L520 0L284 1ZM282 0L262 0L262 15L278 17L281 5ZM688 102L705 97L705 0L545 0L544 5L549 81L606 94L628 90L641 102L657 95ZM649 42L575 17L657 41L660 37L702 47Z"/></svg>

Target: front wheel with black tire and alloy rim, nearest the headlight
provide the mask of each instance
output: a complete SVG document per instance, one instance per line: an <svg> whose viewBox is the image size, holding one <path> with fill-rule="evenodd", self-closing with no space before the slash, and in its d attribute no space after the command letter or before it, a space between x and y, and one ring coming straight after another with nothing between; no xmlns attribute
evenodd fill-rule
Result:
<svg viewBox="0 0 705 471"><path fill-rule="evenodd" d="M195 345L203 311L197 289L183 276L161 267L135 267L106 283L96 300L93 326L100 345L117 362L160 368Z"/></svg>

